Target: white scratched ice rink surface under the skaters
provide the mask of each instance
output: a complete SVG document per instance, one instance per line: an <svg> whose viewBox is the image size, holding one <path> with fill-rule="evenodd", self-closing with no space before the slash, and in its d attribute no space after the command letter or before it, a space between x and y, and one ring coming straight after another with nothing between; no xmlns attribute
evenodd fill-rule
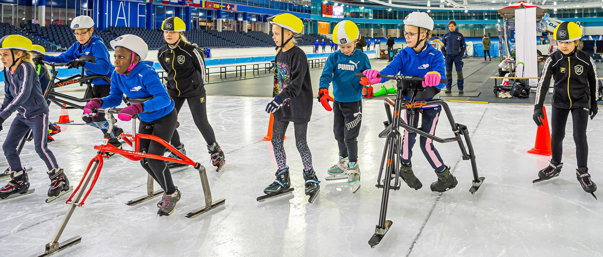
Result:
<svg viewBox="0 0 603 257"><path fill-rule="evenodd" d="M199 174L193 168L173 174L183 197L172 215L156 215L159 198L124 205L146 193L147 173L138 162L113 156L106 160L86 205L75 210L63 233L61 241L80 235L81 243L55 256L603 256L603 207L576 180L570 130L561 175L532 184L550 157L526 153L534 146L536 130L530 105L450 103L456 122L469 128L479 175L486 177L484 184L475 195L470 194L470 162L461 159L458 144L436 143L459 183L443 194L431 192L429 184L437 177L415 145L413 168L423 188L414 191L403 184L399 191L391 191L387 219L393 226L371 249L367 241L379 218L382 194L374 185L385 144L385 139L377 137L384 128L383 102L363 102L358 138L362 186L356 194L350 192L346 180L324 180L338 151L333 114L314 102L308 144L321 191L312 204L303 192L292 125L285 149L295 191L256 201L276 171L271 143L262 141L268 127L267 102L268 98L207 97L209 121L226 154L220 173L215 173L209 161L186 104L179 115L188 156L207 168L213 198L226 198L225 206L197 218L185 217L204 205ZM52 105L51 121L57 121L58 114ZM80 111L69 114L81 123ZM10 122L4 123L2 140ZM119 125L131 131L130 123L120 121ZM590 121L587 132L590 173L600 185L602 125L603 115L599 115ZM101 141L101 133L86 125L62 127L49 147L75 188L95 155L93 145ZM452 136L445 118L436 135ZM44 202L49 180L33 144L27 144L21 156L25 166L34 167L29 176L36 192L0 201L0 256L42 253L68 209L66 196ZM0 163L6 166L4 158Z"/></svg>

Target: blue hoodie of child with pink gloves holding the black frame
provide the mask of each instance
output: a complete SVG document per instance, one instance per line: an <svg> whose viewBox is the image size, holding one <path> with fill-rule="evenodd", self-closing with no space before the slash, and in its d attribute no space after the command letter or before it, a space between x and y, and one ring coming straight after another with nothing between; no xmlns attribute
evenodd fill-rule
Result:
<svg viewBox="0 0 603 257"><path fill-rule="evenodd" d="M444 65L444 56L440 51L435 49L434 46L428 43L426 48L418 54L415 53L412 47L406 46L394 56L394 60L391 61L389 65L380 71L380 74L402 74L405 76L425 77L425 74L430 71L437 71L440 73L440 84L435 87L443 89L446 86L446 65ZM381 79L381 83L384 83L385 81L388 81L388 79ZM410 99L406 96L405 98Z"/></svg>

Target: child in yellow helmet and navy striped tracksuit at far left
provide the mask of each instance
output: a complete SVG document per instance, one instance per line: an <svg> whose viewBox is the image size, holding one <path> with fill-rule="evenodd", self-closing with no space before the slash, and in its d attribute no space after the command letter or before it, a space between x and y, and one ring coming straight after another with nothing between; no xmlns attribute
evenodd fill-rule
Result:
<svg viewBox="0 0 603 257"><path fill-rule="evenodd" d="M69 180L58 167L52 151L48 149L48 104L44 100L36 68L31 62L32 43L27 37L10 35L0 39L0 60L4 65L4 101L0 106L0 130L2 123L14 112L17 115L8 129L2 150L8 162L10 182L0 189L0 198L28 193L30 182L19 158L17 145L31 129L34 148L46 163L51 185L49 200L69 191ZM48 200L47 200L48 201Z"/></svg>

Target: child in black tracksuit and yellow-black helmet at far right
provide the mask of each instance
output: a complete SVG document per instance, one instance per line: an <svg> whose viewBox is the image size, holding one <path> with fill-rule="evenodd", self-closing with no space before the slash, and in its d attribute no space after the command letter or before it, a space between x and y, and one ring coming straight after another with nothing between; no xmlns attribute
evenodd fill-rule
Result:
<svg viewBox="0 0 603 257"><path fill-rule="evenodd" d="M536 125L542 124L544 117L543 104L549 91L551 77L554 78L553 97L551 101L551 163L538 172L540 180L548 180L559 176L563 163L563 138L567 116L572 113L573 141L576 144L576 160L578 169L576 177L584 191L593 193L597 186L590 179L587 161L589 146L586 141L586 127L590 119L595 118L598 107L598 75L595 61L586 52L577 49L582 38L582 29L574 22L563 22L555 28L554 39L557 40L558 51L553 52L545 61L545 65L536 89L536 101L532 118Z"/></svg>

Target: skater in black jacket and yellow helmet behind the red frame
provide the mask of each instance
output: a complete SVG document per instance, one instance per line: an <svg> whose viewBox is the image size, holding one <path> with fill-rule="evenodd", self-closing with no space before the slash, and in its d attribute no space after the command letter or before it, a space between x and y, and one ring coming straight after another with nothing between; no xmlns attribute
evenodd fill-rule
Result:
<svg viewBox="0 0 603 257"><path fill-rule="evenodd" d="M197 47L191 45L182 34L182 31L186 30L186 24L179 17L165 19L162 30L166 45L159 49L157 60L168 74L168 93L174 100L177 112L180 112L185 100L188 102L192 119L207 143L207 151L211 156L212 165L219 171L225 163L224 152L216 142L212 125L207 121L203 57ZM174 131L171 144L186 153L177 130ZM172 154L172 157L177 156ZM170 164L172 167L175 166L175 163Z"/></svg>

